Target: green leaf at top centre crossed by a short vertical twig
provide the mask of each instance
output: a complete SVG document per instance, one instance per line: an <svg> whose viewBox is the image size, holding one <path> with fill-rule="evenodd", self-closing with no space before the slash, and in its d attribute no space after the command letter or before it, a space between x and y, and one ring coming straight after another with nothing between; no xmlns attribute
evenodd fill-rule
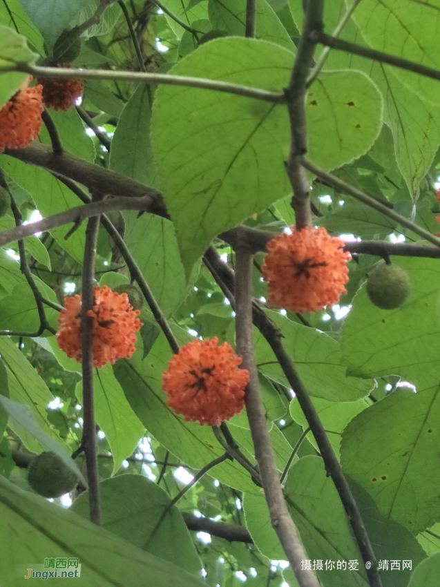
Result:
<svg viewBox="0 0 440 587"><path fill-rule="evenodd" d="M213 29L227 30L231 35L240 37L245 36L246 0L209 0L208 12ZM294 43L287 30L266 0L256 2L255 37L294 50Z"/></svg>

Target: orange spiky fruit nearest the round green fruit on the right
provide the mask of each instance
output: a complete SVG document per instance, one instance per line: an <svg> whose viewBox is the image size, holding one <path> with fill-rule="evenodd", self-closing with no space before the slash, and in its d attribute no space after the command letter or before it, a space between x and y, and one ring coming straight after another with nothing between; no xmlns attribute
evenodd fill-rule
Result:
<svg viewBox="0 0 440 587"><path fill-rule="evenodd" d="M345 242L324 228L292 228L267 244L262 275L269 282L269 305L293 312L314 312L336 304L348 281Z"/></svg>

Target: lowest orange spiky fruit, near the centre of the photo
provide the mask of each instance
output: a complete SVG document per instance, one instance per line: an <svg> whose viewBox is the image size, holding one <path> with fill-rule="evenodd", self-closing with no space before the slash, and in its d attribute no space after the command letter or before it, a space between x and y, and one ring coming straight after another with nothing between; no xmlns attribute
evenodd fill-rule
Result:
<svg viewBox="0 0 440 587"><path fill-rule="evenodd" d="M249 372L231 345L218 338L193 340L182 347L164 372L162 389L169 405L186 421L219 426L245 405Z"/></svg>

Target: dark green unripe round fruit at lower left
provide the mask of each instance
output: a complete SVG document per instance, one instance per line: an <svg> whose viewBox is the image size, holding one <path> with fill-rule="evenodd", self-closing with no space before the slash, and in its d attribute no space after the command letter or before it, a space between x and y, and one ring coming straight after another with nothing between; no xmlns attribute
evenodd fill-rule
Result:
<svg viewBox="0 0 440 587"><path fill-rule="evenodd" d="M78 477L55 452L41 452L29 465L28 483L43 497L60 497L76 487Z"/></svg>

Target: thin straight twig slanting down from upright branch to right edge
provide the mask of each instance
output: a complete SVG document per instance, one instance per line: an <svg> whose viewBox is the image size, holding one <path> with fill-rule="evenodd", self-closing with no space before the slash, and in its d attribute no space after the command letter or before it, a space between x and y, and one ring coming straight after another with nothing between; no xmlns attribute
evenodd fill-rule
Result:
<svg viewBox="0 0 440 587"><path fill-rule="evenodd" d="M440 240L436 236L434 236L427 230L419 227L418 224L415 224L411 220L408 220L408 218L405 218L405 216L402 216L394 212L394 210L390 210L390 208L384 206L383 204L381 204L381 202L374 200L374 198L371 198L366 193L363 193L363 191L358 190L350 186L350 184L343 182L343 180L338 179L338 177L336 177L335 175L326 173L313 163L306 160L304 157L300 158L300 163L305 167L305 169L312 171L312 173L314 173L318 177L321 177L323 180L328 182L332 187L344 190L346 193L352 195L353 198L356 198L356 200L358 200L359 202L367 204L367 206L370 206L370 208L374 208L374 210L381 212L384 216L387 216L388 218L395 220L395 222L399 222L399 224L401 224L403 227L412 230L414 233L418 234L425 240L432 242L432 244L435 244L436 247L440 247Z"/></svg>

